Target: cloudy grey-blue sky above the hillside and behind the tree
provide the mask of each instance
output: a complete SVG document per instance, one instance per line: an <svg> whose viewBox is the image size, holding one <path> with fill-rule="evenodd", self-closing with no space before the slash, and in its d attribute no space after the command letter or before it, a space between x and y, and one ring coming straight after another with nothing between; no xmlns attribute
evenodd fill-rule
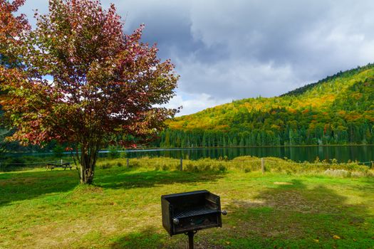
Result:
<svg viewBox="0 0 374 249"><path fill-rule="evenodd" d="M157 43L180 75L180 115L246 97L272 97L374 62L374 1L113 0L131 33ZM21 12L46 13L47 0ZM30 20L31 21L31 20ZM31 21L34 23L34 21Z"/></svg>

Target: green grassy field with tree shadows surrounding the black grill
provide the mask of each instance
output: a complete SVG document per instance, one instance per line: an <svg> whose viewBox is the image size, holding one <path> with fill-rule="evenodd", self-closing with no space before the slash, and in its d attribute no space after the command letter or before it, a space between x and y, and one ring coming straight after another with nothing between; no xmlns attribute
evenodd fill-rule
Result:
<svg viewBox="0 0 374 249"><path fill-rule="evenodd" d="M172 159L101 161L88 187L76 171L0 173L0 248L185 248L187 236L162 228L160 196L199 189L221 196L228 214L197 233L196 248L374 248L373 176L275 162L263 175L240 160L188 171Z"/></svg>

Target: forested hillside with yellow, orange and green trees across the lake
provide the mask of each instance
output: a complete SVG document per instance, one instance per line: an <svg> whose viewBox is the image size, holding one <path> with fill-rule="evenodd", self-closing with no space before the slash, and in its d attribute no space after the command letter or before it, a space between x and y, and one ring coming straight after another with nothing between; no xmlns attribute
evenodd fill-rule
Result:
<svg viewBox="0 0 374 249"><path fill-rule="evenodd" d="M374 144L374 64L279 97L237 100L168 124L170 128L152 145Z"/></svg>

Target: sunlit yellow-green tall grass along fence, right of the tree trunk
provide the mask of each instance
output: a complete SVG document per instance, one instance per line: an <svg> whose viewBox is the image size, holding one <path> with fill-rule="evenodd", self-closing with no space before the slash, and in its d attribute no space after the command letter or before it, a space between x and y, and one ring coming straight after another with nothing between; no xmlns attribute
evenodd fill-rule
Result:
<svg viewBox="0 0 374 249"><path fill-rule="evenodd" d="M144 168L150 170L175 171L180 170L180 159L172 159L169 157L141 157L137 159L99 159L97 166L99 168L107 169L113 166L129 166L130 168ZM217 171L224 172L227 170L243 171L245 173L251 171L261 171L261 159L258 157L236 157L232 160L227 158L220 159L199 159L189 160L183 159L183 171L202 172L202 171ZM276 157L264 158L265 172L278 172L286 174L321 174L330 170L345 170L349 171L352 176L373 176L373 170L369 166L360 165L357 162L338 164L335 161L331 163L325 162L303 162L296 163L289 159L279 159Z"/></svg>

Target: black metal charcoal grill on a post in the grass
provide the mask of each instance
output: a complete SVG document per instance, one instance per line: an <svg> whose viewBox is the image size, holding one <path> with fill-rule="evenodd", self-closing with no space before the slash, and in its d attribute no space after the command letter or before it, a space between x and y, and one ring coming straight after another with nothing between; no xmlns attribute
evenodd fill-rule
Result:
<svg viewBox="0 0 374 249"><path fill-rule="evenodd" d="M161 196L162 226L172 235L189 236L189 248L193 248L194 233L206 228L222 227L219 196L207 190L168 194Z"/></svg>

